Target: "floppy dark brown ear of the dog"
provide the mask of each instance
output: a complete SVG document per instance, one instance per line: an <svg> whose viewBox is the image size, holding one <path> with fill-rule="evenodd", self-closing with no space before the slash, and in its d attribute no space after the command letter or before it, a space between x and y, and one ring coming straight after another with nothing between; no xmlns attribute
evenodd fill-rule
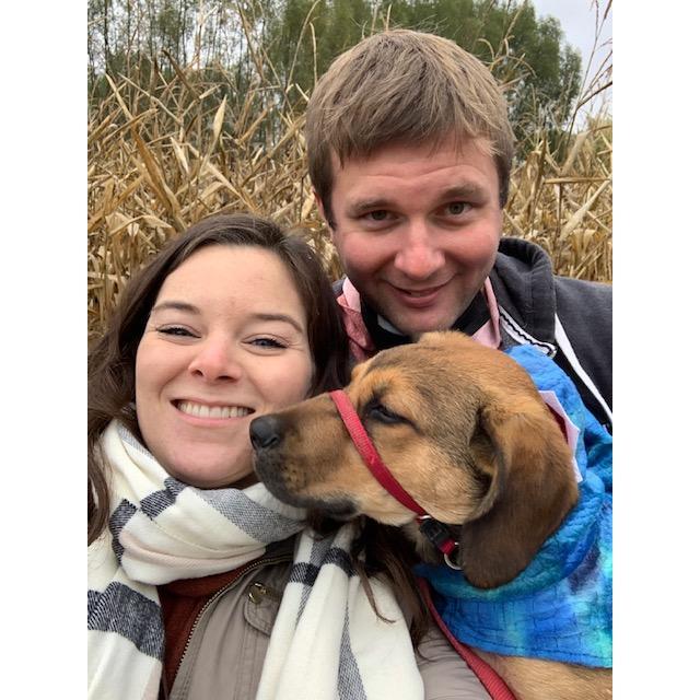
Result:
<svg viewBox="0 0 700 700"><path fill-rule="evenodd" d="M578 499L571 451L548 409L535 401L504 413L481 410L477 439L492 451L488 510L460 533L463 572L472 585L512 581L560 525Z"/></svg>

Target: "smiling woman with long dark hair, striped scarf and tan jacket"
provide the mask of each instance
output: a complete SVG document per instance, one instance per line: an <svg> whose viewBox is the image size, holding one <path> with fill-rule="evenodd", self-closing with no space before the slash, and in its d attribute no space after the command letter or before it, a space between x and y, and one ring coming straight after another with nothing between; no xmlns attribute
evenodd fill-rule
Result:
<svg viewBox="0 0 700 700"><path fill-rule="evenodd" d="M415 656L386 538L363 564L357 524L320 537L256 483L249 422L346 358L322 266L270 222L207 219L130 282L89 362L90 698L486 697L439 638Z"/></svg>

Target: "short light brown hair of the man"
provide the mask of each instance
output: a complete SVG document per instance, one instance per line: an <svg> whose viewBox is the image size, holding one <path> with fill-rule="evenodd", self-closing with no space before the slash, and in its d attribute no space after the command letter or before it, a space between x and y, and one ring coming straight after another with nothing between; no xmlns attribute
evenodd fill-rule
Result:
<svg viewBox="0 0 700 700"><path fill-rule="evenodd" d="M342 164L389 144L440 148L469 138L479 138L494 158L503 207L513 131L499 85L454 42L409 30L375 34L341 54L306 110L311 182L331 225L334 155Z"/></svg>

